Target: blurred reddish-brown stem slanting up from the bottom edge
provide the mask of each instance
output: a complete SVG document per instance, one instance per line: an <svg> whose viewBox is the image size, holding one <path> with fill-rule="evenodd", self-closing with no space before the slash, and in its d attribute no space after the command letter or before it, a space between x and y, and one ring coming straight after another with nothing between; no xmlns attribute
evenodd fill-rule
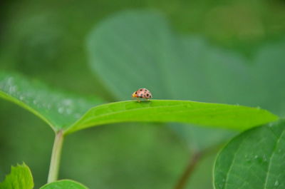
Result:
<svg viewBox="0 0 285 189"><path fill-rule="evenodd" d="M180 180L178 180L177 184L175 185L175 189L185 188L187 181L189 180L191 174L193 173L193 170L195 169L201 157L202 153L199 152L194 153L194 155L192 155L187 165L187 168L185 169L184 173L182 173Z"/></svg>

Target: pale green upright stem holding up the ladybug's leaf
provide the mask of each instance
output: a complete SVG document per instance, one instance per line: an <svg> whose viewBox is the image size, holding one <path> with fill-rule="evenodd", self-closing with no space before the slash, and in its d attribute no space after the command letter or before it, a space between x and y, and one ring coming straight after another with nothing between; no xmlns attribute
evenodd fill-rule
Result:
<svg viewBox="0 0 285 189"><path fill-rule="evenodd" d="M52 183L58 179L59 163L61 161L61 149L63 145L63 131L56 133L53 143L53 152L51 153L51 164L48 172L48 183Z"/></svg>

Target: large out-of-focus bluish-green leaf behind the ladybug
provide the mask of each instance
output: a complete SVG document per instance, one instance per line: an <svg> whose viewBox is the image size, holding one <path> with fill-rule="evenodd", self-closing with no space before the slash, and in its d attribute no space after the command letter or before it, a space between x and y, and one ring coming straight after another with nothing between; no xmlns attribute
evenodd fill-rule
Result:
<svg viewBox="0 0 285 189"><path fill-rule="evenodd" d="M285 69L284 41L257 51L254 68L239 53L199 36L175 34L155 11L123 11L96 25L87 46L93 72L120 100L144 87L157 99L238 103L279 114L285 110L285 80L278 74ZM171 126L191 148L207 148L232 136L217 129Z"/></svg>

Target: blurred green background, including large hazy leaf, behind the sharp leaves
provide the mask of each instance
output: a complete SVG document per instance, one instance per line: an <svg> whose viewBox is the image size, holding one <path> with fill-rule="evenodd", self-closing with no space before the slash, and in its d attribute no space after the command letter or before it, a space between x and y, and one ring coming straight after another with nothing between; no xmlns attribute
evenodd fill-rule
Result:
<svg viewBox="0 0 285 189"><path fill-rule="evenodd" d="M155 98L284 116L284 60L284 0L0 2L2 70L106 102L128 100L148 82ZM0 128L0 180L24 161L35 188L46 183L53 145L46 123L0 100ZM60 178L89 188L172 188L194 150L234 134L173 124L89 128L66 138ZM187 188L212 188L216 154L202 158Z"/></svg>

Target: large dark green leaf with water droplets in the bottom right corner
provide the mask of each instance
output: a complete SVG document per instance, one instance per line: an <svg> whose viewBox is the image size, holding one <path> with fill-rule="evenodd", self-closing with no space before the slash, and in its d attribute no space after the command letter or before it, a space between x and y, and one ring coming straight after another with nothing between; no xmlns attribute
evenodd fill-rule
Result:
<svg viewBox="0 0 285 189"><path fill-rule="evenodd" d="M285 188L285 122L245 131L219 153L216 189Z"/></svg>

